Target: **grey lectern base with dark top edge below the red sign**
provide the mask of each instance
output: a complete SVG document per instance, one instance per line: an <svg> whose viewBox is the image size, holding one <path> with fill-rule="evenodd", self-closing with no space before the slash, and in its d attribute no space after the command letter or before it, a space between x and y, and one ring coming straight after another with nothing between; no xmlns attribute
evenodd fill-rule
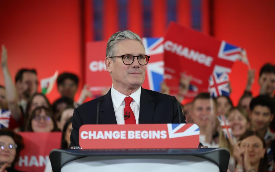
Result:
<svg viewBox="0 0 275 172"><path fill-rule="evenodd" d="M53 172L211 171L226 172L225 148L60 150L50 153Z"/></svg>

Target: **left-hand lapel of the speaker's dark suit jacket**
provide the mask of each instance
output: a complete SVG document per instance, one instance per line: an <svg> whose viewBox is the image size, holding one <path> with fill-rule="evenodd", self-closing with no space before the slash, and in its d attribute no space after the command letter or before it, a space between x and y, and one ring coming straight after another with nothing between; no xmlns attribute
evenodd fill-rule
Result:
<svg viewBox="0 0 275 172"><path fill-rule="evenodd" d="M100 104L99 119L102 122L102 124L117 124L111 97L111 89L108 91L106 95L104 95L104 100Z"/></svg>

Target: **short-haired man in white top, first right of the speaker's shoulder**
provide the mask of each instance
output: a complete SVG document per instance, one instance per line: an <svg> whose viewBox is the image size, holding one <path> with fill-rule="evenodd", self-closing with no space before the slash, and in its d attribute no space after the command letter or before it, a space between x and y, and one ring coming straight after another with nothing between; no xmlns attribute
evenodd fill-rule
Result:
<svg viewBox="0 0 275 172"><path fill-rule="evenodd" d="M217 135L217 102L209 93L200 93L193 100L192 119L200 129L200 142L208 147L219 147Z"/></svg>

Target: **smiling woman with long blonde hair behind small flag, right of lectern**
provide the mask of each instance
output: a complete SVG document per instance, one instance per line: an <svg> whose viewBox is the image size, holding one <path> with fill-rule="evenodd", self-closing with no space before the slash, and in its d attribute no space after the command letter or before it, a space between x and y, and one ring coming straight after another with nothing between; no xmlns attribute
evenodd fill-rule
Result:
<svg viewBox="0 0 275 172"><path fill-rule="evenodd" d="M245 133L249 127L248 123L248 114L247 112L240 107L233 107L225 113L225 116L228 120L229 126L232 129L233 138L227 139L223 133L220 131L219 134L219 146L227 148L230 153L230 160L228 169L230 171L235 170L235 160L233 158L233 150L235 146L235 140L239 140L240 136Z"/></svg>

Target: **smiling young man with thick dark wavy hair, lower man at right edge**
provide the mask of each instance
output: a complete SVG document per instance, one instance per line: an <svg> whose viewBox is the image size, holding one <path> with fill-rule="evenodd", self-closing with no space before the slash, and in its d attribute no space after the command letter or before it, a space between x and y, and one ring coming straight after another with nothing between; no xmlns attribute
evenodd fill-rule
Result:
<svg viewBox="0 0 275 172"><path fill-rule="evenodd" d="M250 102L251 129L257 131L266 141L267 153L270 155L269 165L272 169L273 159L270 152L270 144L274 139L274 133L270 132L269 125L274 118L275 103L270 95L259 95Z"/></svg>

